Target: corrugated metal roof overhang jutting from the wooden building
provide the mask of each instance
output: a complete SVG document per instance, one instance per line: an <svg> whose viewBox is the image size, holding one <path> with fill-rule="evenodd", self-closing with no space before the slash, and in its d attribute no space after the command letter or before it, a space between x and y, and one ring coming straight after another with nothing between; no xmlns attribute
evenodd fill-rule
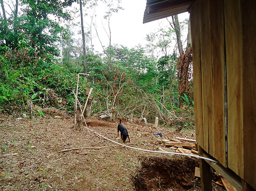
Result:
<svg viewBox="0 0 256 191"><path fill-rule="evenodd" d="M147 0L143 23L187 12L193 0Z"/></svg>

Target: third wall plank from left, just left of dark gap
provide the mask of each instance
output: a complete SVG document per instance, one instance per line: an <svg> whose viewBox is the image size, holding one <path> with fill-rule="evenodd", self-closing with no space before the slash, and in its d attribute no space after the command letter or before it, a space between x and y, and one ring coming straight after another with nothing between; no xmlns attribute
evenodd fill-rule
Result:
<svg viewBox="0 0 256 191"><path fill-rule="evenodd" d="M223 0L210 2L212 48L212 128L209 127L210 154L226 166L225 149L225 34Z"/></svg>

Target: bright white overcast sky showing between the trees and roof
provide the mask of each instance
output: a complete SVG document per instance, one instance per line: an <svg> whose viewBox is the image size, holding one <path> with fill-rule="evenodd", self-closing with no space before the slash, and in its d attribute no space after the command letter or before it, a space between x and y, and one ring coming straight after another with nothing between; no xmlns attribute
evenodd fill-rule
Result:
<svg viewBox="0 0 256 191"><path fill-rule="evenodd" d="M4 2L6 11L11 13L11 10L8 7L7 3L10 7L13 7L14 10L15 0L6 0ZM98 2L100 3L101 1ZM149 34L150 32L155 32L159 28L159 25L161 25L161 27L168 26L168 22L166 19L155 20L149 23L142 24L143 15L146 8L146 0L122 0L121 7L123 7L124 10L119 10L118 13L113 13L110 20L112 45L119 44L124 45L128 48L132 48L137 46L138 44L141 44L144 47L146 44L146 34ZM77 3L73 3L72 8L69 7L69 9L73 8L77 8L79 10L79 5ZM107 47L109 44L109 38L104 31L104 28L102 27L102 25L104 25L105 28L108 29L107 21L103 19L103 15L105 14L105 12L106 5L98 5L95 9L95 13L97 15L96 25L99 37L102 41L103 46ZM83 14L85 31L88 31L89 29L87 23L90 23L90 15L93 14L93 10L88 10L84 7ZM85 14L88 15L85 16ZM188 19L188 17L188 13L179 14L179 21ZM79 31L81 30L80 11L75 14L73 21L75 23L79 23L78 26L72 27L72 32L74 33L73 37L81 39L81 35L79 34ZM184 30L183 33L185 38L187 35L186 30ZM98 40L98 37L96 36L95 30L92 32L92 36L94 49L98 52L102 52L102 47ZM87 45L90 46L90 43L88 43Z"/></svg>

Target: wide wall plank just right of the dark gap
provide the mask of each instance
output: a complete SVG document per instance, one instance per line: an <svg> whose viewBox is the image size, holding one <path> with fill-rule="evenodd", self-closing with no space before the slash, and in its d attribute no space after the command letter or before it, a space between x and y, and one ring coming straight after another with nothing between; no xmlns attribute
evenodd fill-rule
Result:
<svg viewBox="0 0 256 191"><path fill-rule="evenodd" d="M224 0L227 62L227 165L243 178L243 67L240 5L240 0Z"/></svg>

